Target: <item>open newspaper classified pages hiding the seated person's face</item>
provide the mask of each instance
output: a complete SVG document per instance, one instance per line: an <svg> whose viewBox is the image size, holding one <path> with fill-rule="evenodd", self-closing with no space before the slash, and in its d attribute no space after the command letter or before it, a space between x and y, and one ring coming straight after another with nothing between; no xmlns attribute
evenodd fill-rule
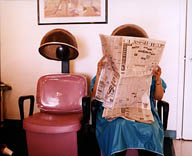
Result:
<svg viewBox="0 0 192 156"><path fill-rule="evenodd" d="M103 102L103 117L152 123L150 85L165 41L100 35L103 58L98 63L94 97Z"/></svg>

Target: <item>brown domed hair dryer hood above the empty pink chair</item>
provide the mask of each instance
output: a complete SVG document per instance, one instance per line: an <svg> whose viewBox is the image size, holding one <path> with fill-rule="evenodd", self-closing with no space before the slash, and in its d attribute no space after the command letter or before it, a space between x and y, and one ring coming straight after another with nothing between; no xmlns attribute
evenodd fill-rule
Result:
<svg viewBox="0 0 192 156"><path fill-rule="evenodd" d="M64 29L53 29L46 33L39 52L45 58L57 61L72 60L79 55L75 37Z"/></svg>

